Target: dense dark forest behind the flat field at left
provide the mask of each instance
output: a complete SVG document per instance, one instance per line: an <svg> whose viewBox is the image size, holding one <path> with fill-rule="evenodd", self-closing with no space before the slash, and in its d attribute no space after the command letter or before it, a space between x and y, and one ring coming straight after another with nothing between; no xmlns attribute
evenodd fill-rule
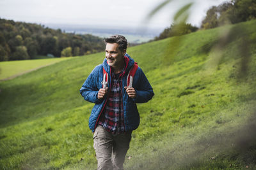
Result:
<svg viewBox="0 0 256 170"><path fill-rule="evenodd" d="M104 50L102 38L65 33L44 25L0 18L0 61L35 59L38 55L69 57Z"/></svg>

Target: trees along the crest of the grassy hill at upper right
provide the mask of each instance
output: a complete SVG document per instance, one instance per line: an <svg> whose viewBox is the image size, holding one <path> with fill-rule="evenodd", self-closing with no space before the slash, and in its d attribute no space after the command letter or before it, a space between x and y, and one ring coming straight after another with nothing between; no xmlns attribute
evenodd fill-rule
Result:
<svg viewBox="0 0 256 170"><path fill-rule="evenodd" d="M207 10L206 16L200 25L195 27L186 22L171 24L164 29L154 40L164 39L172 36L180 36L195 32L198 29L212 29L225 24L236 24L256 18L256 0L232 0L230 2L212 6Z"/></svg>

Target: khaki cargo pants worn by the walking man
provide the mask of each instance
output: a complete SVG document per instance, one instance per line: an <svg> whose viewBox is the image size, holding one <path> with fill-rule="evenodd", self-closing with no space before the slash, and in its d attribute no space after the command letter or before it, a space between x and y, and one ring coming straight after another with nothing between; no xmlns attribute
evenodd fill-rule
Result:
<svg viewBox="0 0 256 170"><path fill-rule="evenodd" d="M93 134L93 148L96 152L99 169L124 169L124 159L129 149L131 132L111 134L98 125Z"/></svg>

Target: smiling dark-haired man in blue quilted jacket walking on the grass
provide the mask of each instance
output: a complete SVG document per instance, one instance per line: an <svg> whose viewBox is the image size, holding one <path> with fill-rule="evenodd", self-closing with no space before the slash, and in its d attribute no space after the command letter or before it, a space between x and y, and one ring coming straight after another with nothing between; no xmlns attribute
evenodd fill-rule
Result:
<svg viewBox="0 0 256 170"><path fill-rule="evenodd" d="M80 93L86 101L95 103L89 127L94 132L98 169L123 169L132 131L140 124L136 103L146 103L154 92L140 67L131 78L132 87L127 87L134 60L126 53L125 37L115 35L105 42L106 59L93 69Z"/></svg>

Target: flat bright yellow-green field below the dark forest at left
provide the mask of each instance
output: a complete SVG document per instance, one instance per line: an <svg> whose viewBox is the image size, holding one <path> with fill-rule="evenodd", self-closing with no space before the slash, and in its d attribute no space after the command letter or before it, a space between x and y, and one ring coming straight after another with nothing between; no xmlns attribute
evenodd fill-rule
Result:
<svg viewBox="0 0 256 170"><path fill-rule="evenodd" d="M49 66L50 64L54 64L66 59L70 58L62 57L54 59L15 60L0 62L0 80L28 73L28 71L33 71L38 67Z"/></svg>

